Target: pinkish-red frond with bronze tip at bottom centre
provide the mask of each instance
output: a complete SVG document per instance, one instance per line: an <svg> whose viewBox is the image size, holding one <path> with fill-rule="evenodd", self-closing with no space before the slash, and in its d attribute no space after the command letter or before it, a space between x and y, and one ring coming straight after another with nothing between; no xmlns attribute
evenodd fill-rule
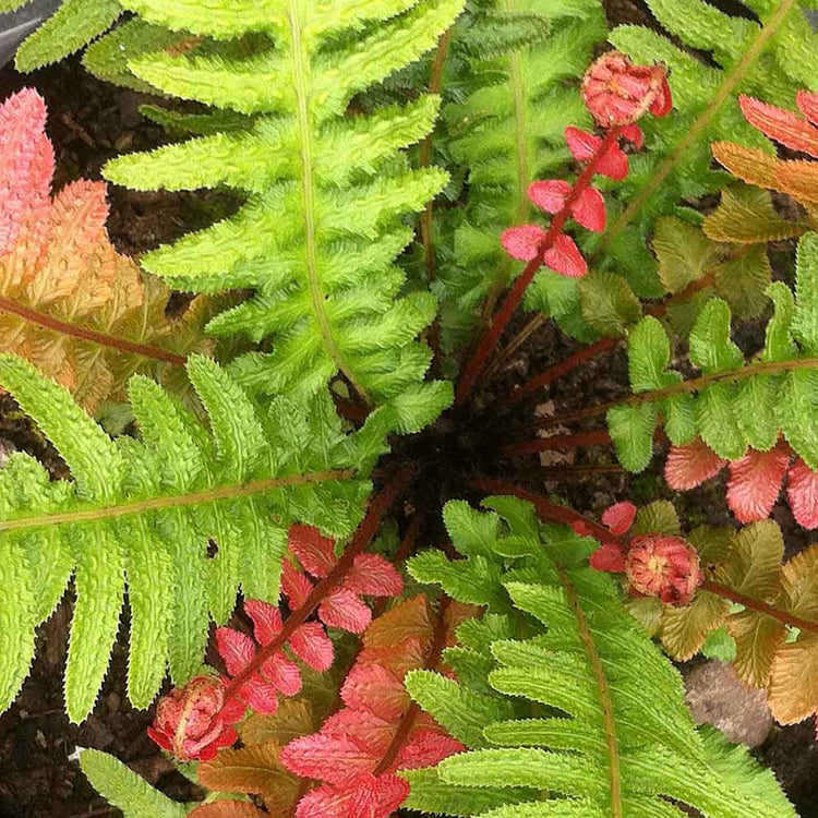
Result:
<svg viewBox="0 0 818 818"><path fill-rule="evenodd" d="M447 643L454 627L473 614L467 609L448 605ZM397 770L432 767L465 749L412 706L404 687L409 670L426 665L434 639L423 596L400 603L366 630L341 687L345 707L279 756L291 772L323 782L301 798L296 818L387 818L409 794Z"/></svg>

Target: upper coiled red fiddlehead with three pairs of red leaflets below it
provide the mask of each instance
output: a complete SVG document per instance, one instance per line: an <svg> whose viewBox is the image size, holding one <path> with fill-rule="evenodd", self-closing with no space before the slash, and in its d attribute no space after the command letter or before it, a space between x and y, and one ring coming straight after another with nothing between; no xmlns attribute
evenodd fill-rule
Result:
<svg viewBox="0 0 818 818"><path fill-rule="evenodd" d="M594 120L610 129L601 139L578 128L565 129L572 156L584 166L574 184L562 179L532 182L528 187L531 203L554 218L546 231L537 225L510 227L503 233L503 246L509 255L542 263L568 278L581 278L588 272L582 254L570 236L563 232L568 218L594 232L605 229L605 202L592 187L594 175L621 181L628 173L628 158L619 140L636 148L642 133L636 124L647 111L664 117L671 110L666 72L659 65L634 65L627 57L611 51L600 57L582 80L582 99Z"/></svg>

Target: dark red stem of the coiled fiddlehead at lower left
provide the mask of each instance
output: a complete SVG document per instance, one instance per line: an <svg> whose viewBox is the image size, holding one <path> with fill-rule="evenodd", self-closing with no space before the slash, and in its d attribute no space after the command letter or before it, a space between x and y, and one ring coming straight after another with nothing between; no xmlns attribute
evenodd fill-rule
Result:
<svg viewBox="0 0 818 818"><path fill-rule="evenodd" d="M236 696L244 684L258 673L262 665L284 648L296 631L296 628L306 622L306 618L318 606L322 600L340 585L341 580L352 568L354 558L372 542L372 538L381 527L381 520L384 515L389 510L389 507L398 495L409 485L414 474L416 469L412 467L404 469L374 496L366 509L366 514L361 520L361 525L356 529L352 539L349 541L335 567L312 589L304 604L287 617L284 627L276 635L275 639L269 645L261 648L253 658L253 661L241 673L232 677L225 691L225 700Z"/></svg>

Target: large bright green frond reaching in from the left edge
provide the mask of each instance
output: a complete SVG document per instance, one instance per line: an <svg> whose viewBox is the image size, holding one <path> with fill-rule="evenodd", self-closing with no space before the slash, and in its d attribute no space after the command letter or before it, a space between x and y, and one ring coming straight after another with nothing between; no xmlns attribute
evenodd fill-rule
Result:
<svg viewBox="0 0 818 818"><path fill-rule="evenodd" d="M108 437L60 386L26 362L0 357L14 395L68 464L73 480L49 481L14 454L0 472L0 708L25 678L34 628L73 575L76 604L65 671L73 721L91 711L131 605L129 696L147 707L170 666L181 684L199 670L209 617L222 623L238 588L275 601L292 521L337 538L358 524L366 471L387 431L407 422L385 407L345 434L326 393L296 406L258 406L213 361L188 374L209 430L142 376L130 383L141 440ZM411 414L411 410L409 411ZM208 558L207 546L217 549Z"/></svg>

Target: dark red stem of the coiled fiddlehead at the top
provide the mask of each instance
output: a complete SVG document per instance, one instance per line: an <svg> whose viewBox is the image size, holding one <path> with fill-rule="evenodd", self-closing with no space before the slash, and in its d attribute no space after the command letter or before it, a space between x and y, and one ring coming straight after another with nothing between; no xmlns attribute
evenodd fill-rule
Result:
<svg viewBox="0 0 818 818"><path fill-rule="evenodd" d="M590 161L582 169L582 172L577 177L577 181L574 182L574 187L570 189L570 193L568 193L568 195L565 197L565 203L562 209L557 214L555 214L554 218L551 220L551 227L549 227L545 236L542 239L540 251L538 252L537 256L526 265L526 268L514 282L514 286L508 291L508 294L503 301L503 304L492 320L491 326L483 334L482 339L478 344L474 354L466 365L462 377L460 378L460 383L457 385L457 392L455 393L455 402L462 402L464 398L466 398L466 396L471 393L471 389L477 383L480 373L485 366L485 362L489 356L497 346L500 336L506 328L506 325L508 324L520 301L522 301L522 296L528 289L528 286L531 284L534 275L542 266L545 253L551 250L557 236L562 233L563 228L565 227L565 222L570 216L572 206L579 199L582 191L585 191L590 185L593 176L597 172L597 166L608 154L608 152L616 145L621 133L621 127L615 125L614 128L612 128L605 134L605 139L602 140L602 144L600 145L599 151L597 151L593 157L591 157Z"/></svg>

